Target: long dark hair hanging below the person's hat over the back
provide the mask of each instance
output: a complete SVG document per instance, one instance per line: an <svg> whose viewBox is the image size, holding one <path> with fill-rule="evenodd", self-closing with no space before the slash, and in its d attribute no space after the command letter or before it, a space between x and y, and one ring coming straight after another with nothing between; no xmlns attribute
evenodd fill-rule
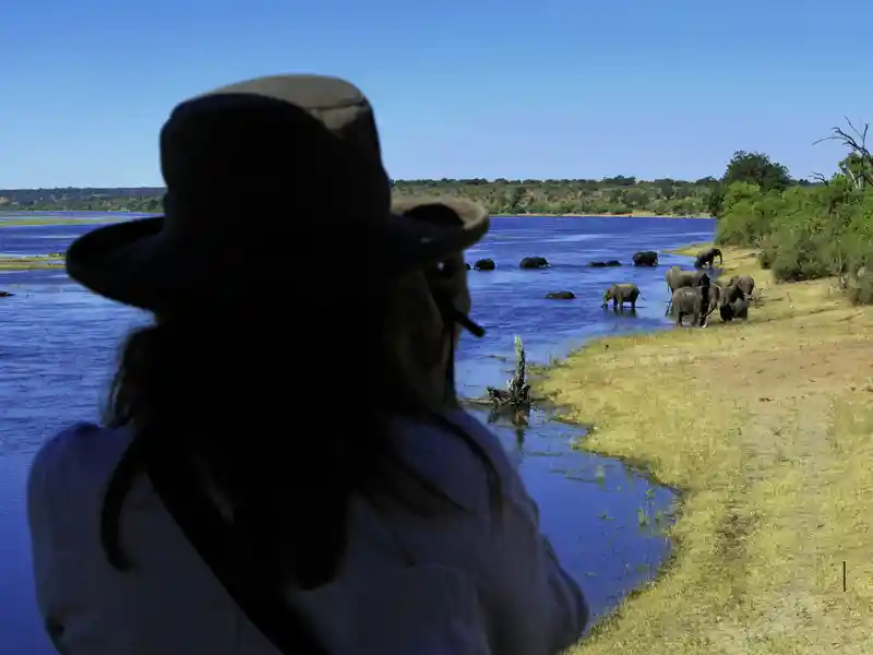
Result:
<svg viewBox="0 0 873 655"><path fill-rule="evenodd" d="M110 426L133 434L103 507L110 564L133 565L121 548L121 510L148 457L178 457L192 474L202 467L264 574L301 588L336 575L356 493L420 512L464 511L404 463L390 439L392 416L443 421L482 461L494 492L481 446L409 392L391 350L397 301L390 290L343 298L344 315L319 325L303 323L300 307L234 307L162 317L132 332L107 412Z"/></svg>

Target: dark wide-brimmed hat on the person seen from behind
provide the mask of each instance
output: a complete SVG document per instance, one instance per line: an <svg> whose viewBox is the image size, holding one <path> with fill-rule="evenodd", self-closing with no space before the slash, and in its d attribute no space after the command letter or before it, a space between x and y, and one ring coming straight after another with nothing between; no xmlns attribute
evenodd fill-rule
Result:
<svg viewBox="0 0 873 655"><path fill-rule="evenodd" d="M336 78L261 78L189 99L162 129L160 165L163 216L99 227L67 252L73 279L152 311L235 302L277 277L290 302L339 284L348 296L489 227L466 200L392 207L370 103Z"/></svg>

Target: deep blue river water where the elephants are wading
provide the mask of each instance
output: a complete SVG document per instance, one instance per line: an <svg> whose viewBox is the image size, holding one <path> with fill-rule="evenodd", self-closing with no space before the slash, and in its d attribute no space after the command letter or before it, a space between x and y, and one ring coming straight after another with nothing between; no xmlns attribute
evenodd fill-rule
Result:
<svg viewBox="0 0 873 655"><path fill-rule="evenodd" d="M59 252L94 228L92 222L2 222L0 253ZM488 334L462 338L459 392L481 396L486 385L504 386L512 374L515 335L523 338L528 360L547 362L591 337L668 327L663 274L690 260L662 253L654 269L626 264L637 250L707 241L714 231L715 222L702 218L494 218L488 237L467 254L470 263L491 258L498 267L469 273L473 318ZM552 267L519 270L518 261L528 255L546 257ZM587 266L610 259L625 265ZM600 307L602 290L617 282L639 286L644 299L635 315ZM145 317L86 293L62 269L0 271L0 289L15 294L0 299L0 655L47 655L53 651L34 607L29 570L27 466L52 432L96 418L118 342ZM543 298L557 290L572 290L576 299ZM485 414L480 417L486 420ZM668 553L662 527L674 493L619 462L572 450L579 429L539 414L524 432L500 425L494 429L540 505L543 532L583 586L595 617L602 617L649 580Z"/></svg>

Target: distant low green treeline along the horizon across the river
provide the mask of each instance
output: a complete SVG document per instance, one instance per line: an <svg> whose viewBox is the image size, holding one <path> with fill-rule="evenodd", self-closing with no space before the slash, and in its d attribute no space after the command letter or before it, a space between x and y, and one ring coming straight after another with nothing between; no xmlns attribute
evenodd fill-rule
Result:
<svg viewBox="0 0 873 655"><path fill-rule="evenodd" d="M753 168L764 155L737 153ZM728 175L728 174L726 174ZM809 183L789 180L790 184ZM632 214L705 216L713 214L725 177L694 181L639 180L609 177L600 180L394 180L394 195L456 195L476 200L492 214ZM0 190L0 211L159 212L162 188L9 189ZM714 202L716 203L714 205Z"/></svg>

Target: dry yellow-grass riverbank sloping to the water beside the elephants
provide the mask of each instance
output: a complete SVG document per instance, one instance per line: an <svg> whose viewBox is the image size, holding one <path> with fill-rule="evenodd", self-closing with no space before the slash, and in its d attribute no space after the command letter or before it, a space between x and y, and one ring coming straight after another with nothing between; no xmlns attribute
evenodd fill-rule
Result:
<svg viewBox="0 0 873 655"><path fill-rule="evenodd" d="M574 653L873 647L873 309L755 255L725 249L761 289L748 323L600 340L540 383L598 426L579 448L683 492L660 579Z"/></svg>

